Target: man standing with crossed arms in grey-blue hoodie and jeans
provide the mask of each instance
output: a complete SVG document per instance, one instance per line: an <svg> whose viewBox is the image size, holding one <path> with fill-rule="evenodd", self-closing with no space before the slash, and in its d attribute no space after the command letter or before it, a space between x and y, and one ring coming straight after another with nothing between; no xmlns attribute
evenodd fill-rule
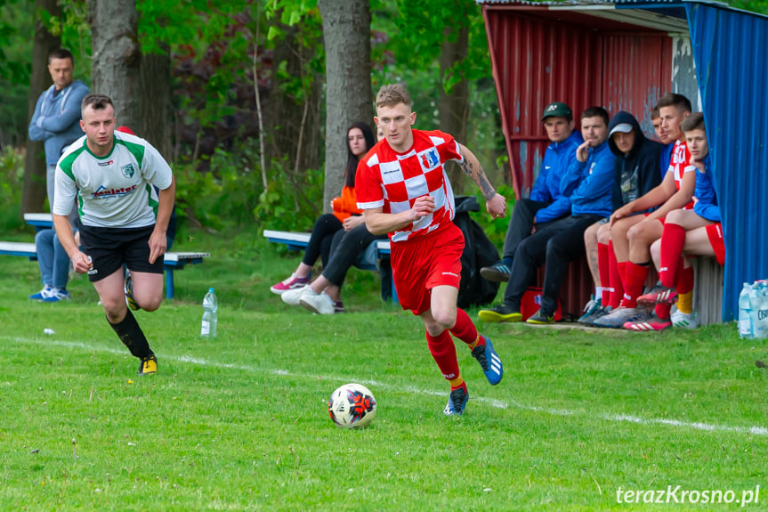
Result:
<svg viewBox="0 0 768 512"><path fill-rule="evenodd" d="M29 121L29 139L44 141L45 188L49 207L53 207L56 163L69 144L83 136L83 129L80 128L80 103L90 91L83 82L73 79L74 71L75 57L69 50L59 48L48 55L48 72L51 73L53 85L37 99L35 113ZM73 227L76 227L75 208L73 217ZM35 245L43 289L29 298L43 302L68 299L69 256L61 247L56 232L37 232Z"/></svg>

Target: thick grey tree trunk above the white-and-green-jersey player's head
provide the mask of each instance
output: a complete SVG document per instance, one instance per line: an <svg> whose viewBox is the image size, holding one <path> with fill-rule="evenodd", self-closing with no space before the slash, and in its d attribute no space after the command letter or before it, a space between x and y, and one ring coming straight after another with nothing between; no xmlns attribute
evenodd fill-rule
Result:
<svg viewBox="0 0 768 512"><path fill-rule="evenodd" d="M141 126L139 74L141 48L136 0L88 0L91 22L93 93L115 104L117 126Z"/></svg>

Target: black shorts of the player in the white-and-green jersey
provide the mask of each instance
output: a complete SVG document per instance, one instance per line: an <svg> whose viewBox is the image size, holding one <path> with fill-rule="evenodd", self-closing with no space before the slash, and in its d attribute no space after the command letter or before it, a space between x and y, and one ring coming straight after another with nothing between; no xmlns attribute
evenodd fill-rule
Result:
<svg viewBox="0 0 768 512"><path fill-rule="evenodd" d="M80 226L81 250L91 257L91 282L102 280L125 264L134 272L163 273L163 256L150 264L150 235L155 225L141 228Z"/></svg>

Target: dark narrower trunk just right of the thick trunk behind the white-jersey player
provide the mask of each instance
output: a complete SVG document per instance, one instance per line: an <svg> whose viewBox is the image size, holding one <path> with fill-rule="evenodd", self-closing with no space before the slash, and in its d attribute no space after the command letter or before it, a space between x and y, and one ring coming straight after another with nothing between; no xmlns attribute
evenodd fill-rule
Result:
<svg viewBox="0 0 768 512"><path fill-rule="evenodd" d="M141 125L136 134L171 161L171 56L166 47L163 51L141 56Z"/></svg>

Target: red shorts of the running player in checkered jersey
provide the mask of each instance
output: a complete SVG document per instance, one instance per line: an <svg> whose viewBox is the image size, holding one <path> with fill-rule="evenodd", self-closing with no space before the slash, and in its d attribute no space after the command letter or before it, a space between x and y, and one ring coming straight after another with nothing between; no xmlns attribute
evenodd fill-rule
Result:
<svg viewBox="0 0 768 512"><path fill-rule="evenodd" d="M392 280L403 309L414 314L430 308L432 289L461 283L464 234L456 224L414 240L392 244Z"/></svg>

